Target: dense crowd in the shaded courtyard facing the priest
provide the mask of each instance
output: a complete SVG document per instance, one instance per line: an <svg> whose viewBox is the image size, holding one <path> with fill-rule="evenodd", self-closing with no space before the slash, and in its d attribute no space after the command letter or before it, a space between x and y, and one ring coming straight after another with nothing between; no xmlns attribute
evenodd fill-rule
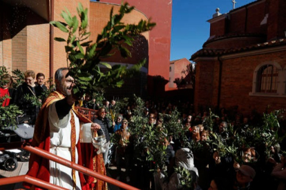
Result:
<svg viewBox="0 0 286 190"><path fill-rule="evenodd" d="M128 124L126 127L123 126L123 121L125 123L134 122L133 117L135 116L136 107L135 103L131 103L117 109L119 110L117 118L115 118L115 121L109 121L113 125L108 126L109 133L114 134L111 135L111 138L116 139L113 141L117 145L117 149L111 160L115 159L115 165L118 168L117 179L121 177L122 158L126 158L124 164L127 169L127 182L130 180L130 168L133 167L136 170L137 168L134 168L134 166L138 165L135 156L136 150L133 145L133 138L138 138L138 136L130 133ZM283 174L285 172L283 169L286 166L284 161L286 152L283 151L286 145L285 140L283 140L286 129L284 118L278 118L280 127L271 129L268 127L271 131L270 136L273 137L273 145L270 146L263 144L265 141L254 143L254 140L251 139L251 136L256 133L254 126L263 125L264 122L263 114L255 112L249 116L243 116L238 112L238 109L227 111L222 108L216 114L210 116L210 113L205 110L198 113L193 112L193 105L187 102L166 104L164 102L146 101L142 117L148 118L146 125L152 125L153 129L156 130L158 127L164 127L164 122L166 122L162 119L164 114L172 114L175 109L180 110L178 123L181 123L182 128L187 129L184 135L187 137L187 141L190 142L190 146L182 142L182 138L166 135L163 142L166 147L166 169L159 168L155 176L143 174L145 178L153 181L153 187L156 187L156 189L181 189L184 187L180 184L178 170L175 172L176 166L183 165L185 169L191 171L191 177L193 178L191 187L189 187L191 189L284 188L286 179ZM106 115L112 113L109 107L105 107L104 110ZM211 126L209 126L207 120L212 121ZM233 154L231 154L231 151L222 153L222 148L229 149L231 145L234 145L233 141L242 136L245 141L236 140L240 144L236 144L237 147L235 147ZM276 136L275 139L274 136ZM216 138L220 140L218 141ZM124 139L128 140L124 142ZM219 147L215 142L221 143L220 145L223 146ZM142 143L144 143L144 139L142 139ZM182 154L182 150L184 150L184 154ZM184 155L184 158L177 158L177 154ZM141 163L141 165L148 165L148 162L150 161ZM154 169L152 164L146 168ZM139 173L146 173L144 167L141 170Z"/></svg>

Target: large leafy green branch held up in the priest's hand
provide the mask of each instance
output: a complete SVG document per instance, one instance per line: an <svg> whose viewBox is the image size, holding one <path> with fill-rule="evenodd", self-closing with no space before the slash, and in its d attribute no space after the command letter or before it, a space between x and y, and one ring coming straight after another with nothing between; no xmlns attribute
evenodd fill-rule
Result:
<svg viewBox="0 0 286 190"><path fill-rule="evenodd" d="M76 16L71 16L70 12L61 12L61 17L65 23L59 21L51 21L50 24L59 28L62 32L68 33L68 39L55 38L56 41L66 42L67 65L70 76L75 78L76 87L73 88L74 94L82 96L82 94L93 94L99 87L121 87L124 83L124 77L133 76L139 68L145 64L146 60L140 61L134 67L127 69L126 66L114 65L111 67L108 63L102 63L101 59L111 56L115 51L119 50L120 54L125 58L131 56L126 48L131 46L134 39L142 32L151 30L155 23L150 21L140 21L137 24L124 24L122 18L124 14L128 14L134 7L128 6L128 3L122 4L120 12L110 14L110 21L102 30L102 34L97 36L95 43L87 41L90 32L88 28L88 10L79 3ZM78 34L75 34L78 32ZM106 72L102 72L101 67L108 68Z"/></svg>

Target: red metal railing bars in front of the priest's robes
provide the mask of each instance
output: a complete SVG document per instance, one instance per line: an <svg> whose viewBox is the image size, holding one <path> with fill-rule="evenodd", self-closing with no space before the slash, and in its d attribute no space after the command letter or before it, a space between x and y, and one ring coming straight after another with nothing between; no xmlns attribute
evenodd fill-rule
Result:
<svg viewBox="0 0 286 190"><path fill-rule="evenodd" d="M17 145L18 145L18 147L17 147ZM11 149L11 147L12 148L19 148L19 142L12 143L8 147L9 147L9 149ZM83 167L81 165L77 165L77 164L70 162L69 160L61 158L59 156L55 156L55 154L51 154L48 151L44 151L43 149L39 149L38 147L31 147L29 145L29 143L27 143L27 142L22 143L21 148L25 149L27 151L30 151L31 153L37 154L43 158L53 160L54 162L58 162L59 164L65 165L66 167L73 168L73 169L75 169L79 172L82 172L88 176L92 176L93 178L97 178L99 180L103 180L103 181L108 182L110 184L114 184L117 187L121 187L123 189L131 189L131 190L137 189L135 187L132 187L131 185L117 181L113 178L109 178L108 176L102 176L99 173L97 173L91 169L88 169L88 168ZM5 149L6 149L5 146L3 146L3 144L1 144L0 151L5 150ZM0 186L4 185L4 184L12 184L15 182L28 182L30 184L35 184L39 187L46 188L46 189L55 189L55 190L56 189L64 189L62 187L58 187L55 184L50 184L49 182L45 182L45 181L39 180L37 178L32 178L31 176L27 176L27 175L10 177L10 178L1 178L0 179Z"/></svg>

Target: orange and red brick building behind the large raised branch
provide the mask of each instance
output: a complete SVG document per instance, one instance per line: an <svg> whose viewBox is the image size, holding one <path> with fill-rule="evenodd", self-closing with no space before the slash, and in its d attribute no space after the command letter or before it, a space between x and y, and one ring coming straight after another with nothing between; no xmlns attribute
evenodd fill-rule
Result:
<svg viewBox="0 0 286 190"><path fill-rule="evenodd" d="M90 40L93 41L107 23L111 8L116 13L122 3L121 0L0 0L0 65L5 65L9 70L43 72L46 78L52 77L57 68L66 67L65 43L53 39L66 39L67 34L53 28L49 22L64 21L60 14L65 8L72 15L76 15L79 2L84 8L88 8L88 25L92 34ZM135 6L135 10L131 14L126 14L124 23L138 23L140 19L152 18L151 21L157 25L151 32L144 32L138 37L130 49L131 58L122 59L120 54L115 54L103 60L111 65L132 66L141 59L147 59L140 76L126 81L126 85L121 89L107 89L115 96L128 96L134 93L144 95L147 94L147 90L152 94L153 76L169 78L172 3L167 0L135 0L129 3ZM162 94L168 89L168 85L164 83L159 89L162 90L158 94Z"/></svg>

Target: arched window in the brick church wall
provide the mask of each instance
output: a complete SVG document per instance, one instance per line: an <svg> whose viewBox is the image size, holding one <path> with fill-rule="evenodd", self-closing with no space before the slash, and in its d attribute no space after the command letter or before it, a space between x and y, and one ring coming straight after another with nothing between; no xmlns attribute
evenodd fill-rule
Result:
<svg viewBox="0 0 286 190"><path fill-rule="evenodd" d="M263 65L259 68L256 77L256 92L277 92L278 70L274 65Z"/></svg>

